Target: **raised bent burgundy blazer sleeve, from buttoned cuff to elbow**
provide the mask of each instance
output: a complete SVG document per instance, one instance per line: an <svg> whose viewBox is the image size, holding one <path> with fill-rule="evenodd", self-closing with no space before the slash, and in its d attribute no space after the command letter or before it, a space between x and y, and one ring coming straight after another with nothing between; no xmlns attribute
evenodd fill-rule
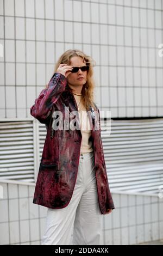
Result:
<svg viewBox="0 0 163 256"><path fill-rule="evenodd" d="M62 92L66 88L66 77L60 73L54 73L51 80L48 83L48 88L43 89L35 100L35 103L30 107L30 114L34 118L40 121L40 123L46 124L47 119L51 114L52 107L59 99Z"/></svg>

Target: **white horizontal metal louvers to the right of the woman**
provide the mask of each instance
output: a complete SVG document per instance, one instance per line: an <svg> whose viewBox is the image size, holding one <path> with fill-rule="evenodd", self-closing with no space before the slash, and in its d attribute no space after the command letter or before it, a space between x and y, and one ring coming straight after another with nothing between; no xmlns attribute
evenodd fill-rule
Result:
<svg viewBox="0 0 163 256"><path fill-rule="evenodd" d="M111 191L158 193L163 185L163 119L111 120L102 142Z"/></svg>

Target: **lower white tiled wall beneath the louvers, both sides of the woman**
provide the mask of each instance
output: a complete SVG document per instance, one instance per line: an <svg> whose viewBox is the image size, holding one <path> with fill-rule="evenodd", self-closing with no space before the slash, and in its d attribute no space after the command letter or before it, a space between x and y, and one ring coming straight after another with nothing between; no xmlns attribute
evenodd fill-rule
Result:
<svg viewBox="0 0 163 256"><path fill-rule="evenodd" d="M0 182L0 245L39 245L47 208L33 204L34 184ZM163 239L163 202L158 195L112 193L113 214L102 215L104 245Z"/></svg>

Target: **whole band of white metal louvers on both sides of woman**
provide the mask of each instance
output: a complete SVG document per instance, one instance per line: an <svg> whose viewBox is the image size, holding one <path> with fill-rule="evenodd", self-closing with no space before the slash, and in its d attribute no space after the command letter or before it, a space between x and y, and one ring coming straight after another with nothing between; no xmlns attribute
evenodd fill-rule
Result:
<svg viewBox="0 0 163 256"><path fill-rule="evenodd" d="M46 138L45 124L36 121L36 132L33 121L0 125L0 179L34 181ZM104 130L101 119L101 127L111 191L158 192L163 184L163 119L111 119L111 133ZM34 156L35 139L38 158Z"/></svg>

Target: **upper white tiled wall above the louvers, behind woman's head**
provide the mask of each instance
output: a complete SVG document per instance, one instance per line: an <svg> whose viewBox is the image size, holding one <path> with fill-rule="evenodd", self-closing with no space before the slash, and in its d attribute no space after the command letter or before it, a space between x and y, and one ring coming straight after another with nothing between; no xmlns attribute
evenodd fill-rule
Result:
<svg viewBox="0 0 163 256"><path fill-rule="evenodd" d="M96 103L111 117L163 115L161 0L0 0L0 117L26 118L58 57L96 60Z"/></svg>

